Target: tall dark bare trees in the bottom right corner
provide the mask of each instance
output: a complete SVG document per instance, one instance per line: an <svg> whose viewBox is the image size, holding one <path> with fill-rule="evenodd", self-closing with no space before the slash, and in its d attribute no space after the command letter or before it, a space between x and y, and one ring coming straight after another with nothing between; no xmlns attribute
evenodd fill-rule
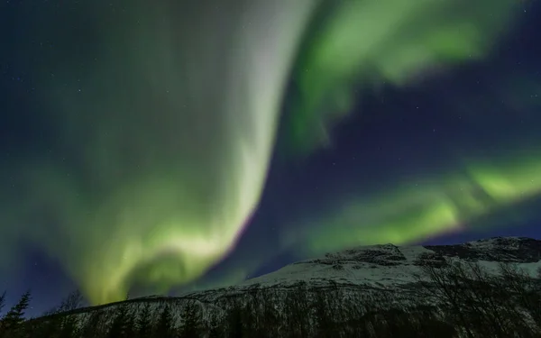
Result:
<svg viewBox="0 0 541 338"><path fill-rule="evenodd" d="M423 297L440 299L446 323L467 337L541 337L541 271L532 278L500 263L498 274L477 263L426 265Z"/></svg>

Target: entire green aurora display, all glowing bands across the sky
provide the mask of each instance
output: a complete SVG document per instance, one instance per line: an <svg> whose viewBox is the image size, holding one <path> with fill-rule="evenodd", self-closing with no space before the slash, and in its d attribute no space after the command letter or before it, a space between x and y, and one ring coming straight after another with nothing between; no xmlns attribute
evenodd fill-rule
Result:
<svg viewBox="0 0 541 338"><path fill-rule="evenodd" d="M23 184L3 196L0 236L40 245L94 304L122 299L133 285L163 292L189 283L234 249L259 203L291 77L300 95L286 118L295 147L309 150L325 140L328 123L347 113L352 86L406 86L426 69L481 59L518 5L198 3L133 1L114 18L81 11L81 24L93 23L97 51L66 42L61 64L41 65L48 69L41 87L49 88L41 101L54 112L60 151L7 169ZM54 20L61 23L51 14ZM64 26L50 30L66 36ZM538 193L541 182L528 178L540 163L522 166L527 172L472 164L471 180L446 175L444 187L356 198L328 218L345 222L341 231L288 233L284 245L308 243L314 253L449 231L463 217ZM471 186L491 202L458 188ZM354 226L358 218L372 221ZM355 235L344 236L350 227Z"/></svg>

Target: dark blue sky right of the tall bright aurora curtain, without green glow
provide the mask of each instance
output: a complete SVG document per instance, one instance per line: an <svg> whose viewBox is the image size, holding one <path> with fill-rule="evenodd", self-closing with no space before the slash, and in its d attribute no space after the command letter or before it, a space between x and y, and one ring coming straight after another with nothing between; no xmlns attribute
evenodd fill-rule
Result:
<svg viewBox="0 0 541 338"><path fill-rule="evenodd" d="M379 187L397 175L429 175L431 170L453 168L455 149L491 157L513 151L514 142L530 136L541 149L536 136L541 135L541 45L536 43L540 10L538 4L525 4L514 32L487 59L408 89L384 87L372 95L362 93L353 114L333 130L329 149L302 160L288 161L278 154L255 225L231 260L250 255L257 248L253 243L279 241L280 224L317 213L359 185ZM355 181L360 173L368 177L362 183ZM418 243L450 244L493 236L540 238L541 199L512 209L521 217L511 219L502 211L494 219L489 217L488 224L465 224L459 233ZM293 260L298 260L293 252L276 255L253 275Z"/></svg>

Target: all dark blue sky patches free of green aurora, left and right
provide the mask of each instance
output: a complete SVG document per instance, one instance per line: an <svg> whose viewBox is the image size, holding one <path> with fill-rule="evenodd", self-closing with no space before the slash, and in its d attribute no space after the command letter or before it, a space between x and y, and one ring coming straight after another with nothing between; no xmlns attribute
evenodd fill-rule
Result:
<svg viewBox="0 0 541 338"><path fill-rule="evenodd" d="M32 62L39 62L39 56L29 56L25 50L14 47L21 36L27 36L23 34L25 24L40 20L42 15L23 12L23 5L23 1L4 1L0 5L3 166L21 154L40 152L54 133L54 126L48 125L35 96L31 69ZM391 178L400 175L424 175L453 167L456 158L449 154L454 149L498 153L507 151L516 138L525 135L541 147L540 12L541 5L526 4L516 30L482 62L426 79L416 87L383 87L377 93L360 94L352 116L333 130L330 148L294 160L277 151L261 206L237 251L225 260L224 266L238 265L261 243L269 251L272 243L278 245L281 230L291 220L316 214L351 189L376 189L392 185ZM457 111L469 111L471 115L455 114ZM463 123L463 119L469 123ZM360 173L364 179L357 179ZM461 233L436 236L426 242L444 244L500 235L541 237L539 200L528 201L527 206L519 206L518 210L527 210L520 222L501 227L466 227ZM39 314L76 287L62 272L59 262L30 243L20 245L25 252L24 263L12 267L10 276L0 275L0 291L7 289L9 303L32 288L32 314ZM269 252L266 257L267 262L251 277L298 259L288 251Z"/></svg>

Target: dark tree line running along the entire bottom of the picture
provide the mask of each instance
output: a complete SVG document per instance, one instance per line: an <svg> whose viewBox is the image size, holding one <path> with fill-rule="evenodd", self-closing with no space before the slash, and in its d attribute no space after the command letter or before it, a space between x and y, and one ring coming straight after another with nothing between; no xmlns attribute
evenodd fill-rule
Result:
<svg viewBox="0 0 541 338"><path fill-rule="evenodd" d="M74 292L39 318L26 320L26 292L0 316L0 338L541 338L539 279L509 264L499 274L479 264L424 264L408 301L393 293L353 297L332 286L298 283L252 288L205 312L197 300L179 307L146 300L86 311ZM372 292L373 294L373 292ZM0 297L0 314L5 294Z"/></svg>

